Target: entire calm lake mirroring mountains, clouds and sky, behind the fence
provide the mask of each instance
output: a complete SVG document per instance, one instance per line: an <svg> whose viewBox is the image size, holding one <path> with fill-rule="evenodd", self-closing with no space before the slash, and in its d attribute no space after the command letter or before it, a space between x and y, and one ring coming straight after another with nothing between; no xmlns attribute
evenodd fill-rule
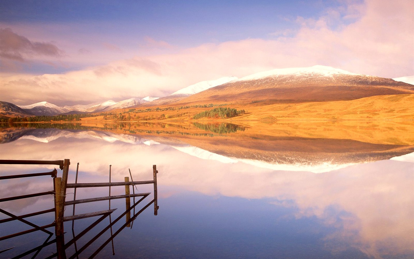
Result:
<svg viewBox="0 0 414 259"><path fill-rule="evenodd" d="M97 258L414 257L412 121L14 124L1 129L0 159L70 159L71 183L77 163L78 182L108 182L109 165L112 182L123 182L129 169L134 181L152 180L156 165L158 215L150 206L115 237L115 256L109 243ZM50 168L0 165L0 175ZM0 198L49 190L51 181L50 176L2 180ZM140 192L151 188L137 186ZM111 191L123 194L124 186ZM67 200L73 199L70 192ZM77 198L106 195L108 187L78 189ZM52 196L27 200L2 202L0 208L22 215L53 206ZM118 208L115 218L125 200L113 200L111 207ZM104 209L108 201L76 207L77 213ZM72 215L72 206L65 215ZM44 225L50 215L33 220ZM75 231L91 222L77 220ZM6 235L27 227L4 223L0 229ZM70 240L71 222L65 231ZM0 241L0 250L15 246L1 257L11 258L45 239L33 233ZM99 242L79 258L88 257ZM43 257L51 254L50 247Z"/></svg>

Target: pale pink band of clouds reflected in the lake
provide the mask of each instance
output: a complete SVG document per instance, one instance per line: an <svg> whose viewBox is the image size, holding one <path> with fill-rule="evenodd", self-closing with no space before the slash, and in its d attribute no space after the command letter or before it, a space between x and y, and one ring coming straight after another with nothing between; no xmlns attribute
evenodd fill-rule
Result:
<svg viewBox="0 0 414 259"><path fill-rule="evenodd" d="M134 180L152 179L152 165L157 165L160 196L170 195L163 194L162 186L176 186L207 195L269 198L297 206L297 218L317 217L337 229L326 239L351 244L368 255L413 252L414 166L410 162L385 160L313 174L222 163L183 156L168 145L131 143L108 143L103 138L59 138L50 143L19 139L2 144L0 155L2 159L70 158L70 174L79 162L80 172L105 179L109 164L113 179L128 176L130 168Z"/></svg>

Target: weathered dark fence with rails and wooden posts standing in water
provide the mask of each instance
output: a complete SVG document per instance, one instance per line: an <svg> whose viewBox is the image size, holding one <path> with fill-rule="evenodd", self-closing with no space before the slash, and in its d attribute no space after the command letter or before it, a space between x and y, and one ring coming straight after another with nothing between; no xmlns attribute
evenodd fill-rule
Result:
<svg viewBox="0 0 414 259"><path fill-rule="evenodd" d="M96 249L93 254L90 255L89 258L93 258L98 254L109 242L113 240L116 235L119 234L121 230L123 230L125 227L130 226L131 222L137 218L142 211L144 211L146 208L148 208L152 203L154 203L154 215L157 215L158 211L158 205L157 205L157 183L156 183L156 174L158 171L156 170L156 166L153 166L153 180L151 181L138 181L134 182L132 181L132 175L130 173L131 181L129 181L128 177L125 177L125 182L111 182L111 169L110 169L110 177L108 183L77 183L77 175L78 175L78 169L76 172L76 179L75 183L67 183L67 177L69 173L69 165L70 160L56 160L56 161L39 161L39 160L0 160L0 164L13 164L13 165L59 165L60 169L63 170L62 177L57 177L57 170L54 169L51 172L44 172L44 173L33 173L33 174L17 174L17 175L8 175L8 176L0 176L0 180L5 179L16 179L16 178L23 178L23 177L36 177L36 176L44 176L44 175L51 175L53 177L53 191L46 191L46 192L40 192L40 193L34 193L34 194L25 194L20 196L14 196L14 197L7 197L7 198L0 198L0 204L1 202L5 201L17 201L24 198L30 198L30 197L38 197L38 196L44 196L53 194L55 197L55 204L54 208L44 210L44 211L36 211L33 213L25 214L25 215L14 215L8 211L5 211L0 208L0 212L7 215L9 218L5 218L0 220L0 223L6 223L11 222L13 220L18 220L22 223L25 223L26 225L31 226L31 229L16 232L10 235L2 236L0 237L0 241L7 240L13 237L22 236L31 232L35 231L42 231L47 233L49 236L46 238L46 240L41 244L40 246L37 246L33 249L30 249L26 252L23 252L22 254L17 255L13 258L21 258L25 257L27 255L33 254L32 258L35 258L44 247L47 247L51 244L56 244L56 253L53 255L47 257L47 258L54 258L58 257L60 258L67 258L66 257L66 251L69 247L72 247L74 245L75 253L72 254L69 258L75 258L78 257L80 253L82 253L87 247L89 247L94 241L96 241L101 235L106 232L107 230L111 229L111 236L104 241L101 246ZM79 166L79 163L78 163ZM135 213L135 207L144 200L149 194L151 193L137 193L135 194L134 189L132 188L133 194L130 194L130 185L135 186L138 184L154 184L154 199L144 205L137 213ZM78 199L76 200L76 189L77 188L88 188L88 187L101 187L101 186L108 186L109 187L109 196L105 197L96 197L96 198L87 198L87 199ZM125 195L116 195L111 196L111 186L125 186ZM74 188L74 199L73 201L66 201L66 189L68 188ZM133 204L130 205L130 198L133 198ZM135 197L140 197L137 202L135 202ZM125 212L122 213L118 218L115 220L111 219L111 213L115 211L116 209L111 209L111 200L112 199L119 199L119 198L125 198L126 202L126 208ZM90 213L84 213L84 214L78 214L75 215L75 205L79 203L90 203L94 201L109 201L109 208L105 211L95 211ZM71 216L64 216L65 206L73 205L73 213ZM130 213L133 210L133 215L131 216ZM36 225L25 218L30 218L36 215L42 215L46 213L55 212L55 217L53 223L50 223L48 225L39 226ZM80 232L78 235L75 235L74 232L74 220L82 219L82 218L90 218L100 216L97 220L94 221L91 225L89 225L87 228L85 228L82 232ZM87 232L89 232L92 228L94 228L96 225L98 225L102 220L104 220L106 217L110 218L110 223L103 228L97 235L92 237L86 244L84 244L81 248L77 248L76 241L79 240L82 236L84 236ZM115 225L120 219L122 219L125 216L125 224L123 224L118 230L113 232L112 227ZM65 232L63 229L63 223L66 221L72 221L72 239L68 242L65 242ZM47 230L48 228L55 227L55 239L51 240L51 237L53 236L53 232ZM2 248L0 253L4 253L10 249L13 249L14 247L9 248Z"/></svg>

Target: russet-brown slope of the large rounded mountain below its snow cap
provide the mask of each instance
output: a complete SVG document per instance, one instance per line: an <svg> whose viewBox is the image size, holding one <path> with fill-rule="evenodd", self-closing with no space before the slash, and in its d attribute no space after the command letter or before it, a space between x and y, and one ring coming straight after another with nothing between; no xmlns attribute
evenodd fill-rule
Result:
<svg viewBox="0 0 414 259"><path fill-rule="evenodd" d="M181 100L194 102L254 102L260 100L339 101L389 94L414 93L414 86L389 78L364 75L265 77L229 82Z"/></svg>

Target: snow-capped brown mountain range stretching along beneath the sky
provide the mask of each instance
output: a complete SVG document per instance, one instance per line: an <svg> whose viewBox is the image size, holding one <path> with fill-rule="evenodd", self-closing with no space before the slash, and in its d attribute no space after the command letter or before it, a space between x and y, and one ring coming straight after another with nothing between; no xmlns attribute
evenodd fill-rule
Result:
<svg viewBox="0 0 414 259"><path fill-rule="evenodd" d="M309 68L274 69L246 77L221 77L202 81L166 97L133 97L120 102L58 107L48 102L17 106L0 102L3 117L106 112L113 109L173 104L225 102L327 102L390 94L413 94L414 76L393 79L359 75L315 65Z"/></svg>

